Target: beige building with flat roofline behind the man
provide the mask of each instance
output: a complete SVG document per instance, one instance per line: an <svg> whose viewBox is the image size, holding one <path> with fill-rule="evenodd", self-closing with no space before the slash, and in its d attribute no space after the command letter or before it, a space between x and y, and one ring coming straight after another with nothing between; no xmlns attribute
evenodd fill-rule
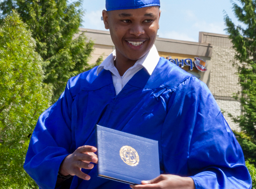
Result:
<svg viewBox="0 0 256 189"><path fill-rule="evenodd" d="M108 31L85 28L80 28L80 31L85 32L88 39L95 42L90 63L95 63L99 56L103 56L105 59L115 49ZM198 42L157 37L155 45L159 56L173 59L170 63L176 61L176 64L180 63L180 67L182 61L186 60L189 64L188 59L194 61L195 57L206 62L203 64L203 68L206 69L204 72L196 69L195 64L192 68L184 62L182 69L207 84L219 107L224 112L229 126L232 129L239 130L238 126L227 116L227 113L231 113L233 116L241 114L240 102L232 98L233 93L241 91L241 87L238 84L237 69L233 66L235 52L228 36L199 32Z"/></svg>

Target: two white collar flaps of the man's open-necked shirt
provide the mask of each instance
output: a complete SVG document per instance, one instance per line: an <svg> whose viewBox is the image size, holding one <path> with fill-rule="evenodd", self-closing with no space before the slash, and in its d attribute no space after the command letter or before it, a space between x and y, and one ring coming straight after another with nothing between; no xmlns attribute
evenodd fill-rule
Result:
<svg viewBox="0 0 256 189"><path fill-rule="evenodd" d="M115 59L116 53L115 50L98 66L97 68L97 76L98 74L103 70L110 70L114 67L114 59ZM158 50L155 45L150 49L150 51L143 57L141 57L139 60L137 60L136 64L141 64L149 73L149 75L152 74L153 70L158 64L159 61L159 54Z"/></svg>

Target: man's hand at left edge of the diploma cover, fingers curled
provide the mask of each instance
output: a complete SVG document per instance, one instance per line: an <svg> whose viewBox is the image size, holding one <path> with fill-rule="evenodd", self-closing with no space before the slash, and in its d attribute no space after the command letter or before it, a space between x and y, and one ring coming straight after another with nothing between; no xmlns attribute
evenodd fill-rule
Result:
<svg viewBox="0 0 256 189"><path fill-rule="evenodd" d="M98 163L98 156L94 154L96 147L82 146L78 147L73 154L67 155L60 165L61 175L76 175L81 179L90 180L90 176L82 172L82 168L92 169L93 163Z"/></svg>

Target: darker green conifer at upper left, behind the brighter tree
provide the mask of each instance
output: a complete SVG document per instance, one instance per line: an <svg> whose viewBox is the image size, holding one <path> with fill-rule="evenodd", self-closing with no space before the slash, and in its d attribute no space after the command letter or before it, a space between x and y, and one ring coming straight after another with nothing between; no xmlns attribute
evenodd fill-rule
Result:
<svg viewBox="0 0 256 189"><path fill-rule="evenodd" d="M84 71L93 50L93 42L79 33L82 0L0 0L0 19L15 9L29 26L36 40L36 51L45 63L44 82L53 84L55 102L70 77ZM77 36L74 39L74 36Z"/></svg>

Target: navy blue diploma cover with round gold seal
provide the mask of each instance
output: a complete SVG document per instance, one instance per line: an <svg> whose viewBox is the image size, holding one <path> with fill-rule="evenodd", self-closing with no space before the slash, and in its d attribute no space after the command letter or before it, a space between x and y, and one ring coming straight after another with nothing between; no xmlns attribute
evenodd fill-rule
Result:
<svg viewBox="0 0 256 189"><path fill-rule="evenodd" d="M98 176L141 184L160 175L158 141L96 126Z"/></svg>

